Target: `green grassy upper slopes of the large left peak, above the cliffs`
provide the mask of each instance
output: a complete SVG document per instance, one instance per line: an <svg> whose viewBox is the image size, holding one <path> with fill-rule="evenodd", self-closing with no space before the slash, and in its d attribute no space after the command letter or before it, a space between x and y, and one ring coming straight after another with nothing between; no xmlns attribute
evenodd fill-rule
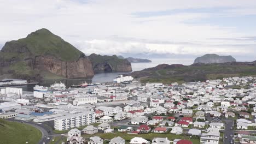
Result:
<svg viewBox="0 0 256 144"><path fill-rule="evenodd" d="M76 61L84 53L48 29L42 28L28 34L26 38L7 42L0 55L4 59L49 55L62 61Z"/></svg>

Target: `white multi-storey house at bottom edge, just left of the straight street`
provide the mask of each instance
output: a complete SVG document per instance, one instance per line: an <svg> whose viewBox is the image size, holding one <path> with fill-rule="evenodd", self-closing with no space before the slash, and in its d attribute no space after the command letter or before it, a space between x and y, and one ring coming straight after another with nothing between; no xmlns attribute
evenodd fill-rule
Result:
<svg viewBox="0 0 256 144"><path fill-rule="evenodd" d="M208 128L207 133L202 133L200 137L200 143L219 143L219 129Z"/></svg>

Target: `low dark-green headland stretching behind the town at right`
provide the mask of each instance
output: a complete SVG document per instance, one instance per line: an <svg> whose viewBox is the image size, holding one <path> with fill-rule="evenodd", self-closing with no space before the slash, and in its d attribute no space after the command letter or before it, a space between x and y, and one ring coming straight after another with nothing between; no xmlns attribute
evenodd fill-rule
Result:
<svg viewBox="0 0 256 144"><path fill-rule="evenodd" d="M256 76L256 67L253 63L225 63L201 64L175 68L146 69L135 71L132 76L141 82L190 82L223 79L232 76Z"/></svg>

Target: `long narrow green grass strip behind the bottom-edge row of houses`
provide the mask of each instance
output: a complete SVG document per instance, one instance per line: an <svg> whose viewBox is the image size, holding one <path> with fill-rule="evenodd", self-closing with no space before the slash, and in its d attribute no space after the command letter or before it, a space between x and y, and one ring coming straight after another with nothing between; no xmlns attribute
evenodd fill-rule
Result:
<svg viewBox="0 0 256 144"><path fill-rule="evenodd" d="M133 137L142 137L146 140L153 140L154 137L167 137L168 140L174 140L174 139L185 139L185 140L191 140L193 143L200 143L200 139L190 139L190 136L184 136L184 135L174 135L174 134L157 134L157 133L149 133L149 134L127 134L127 133L97 133L94 135L83 135L85 138L89 138L91 136L100 136L102 139L110 140L114 137L120 136L123 137L126 141L130 141Z"/></svg>

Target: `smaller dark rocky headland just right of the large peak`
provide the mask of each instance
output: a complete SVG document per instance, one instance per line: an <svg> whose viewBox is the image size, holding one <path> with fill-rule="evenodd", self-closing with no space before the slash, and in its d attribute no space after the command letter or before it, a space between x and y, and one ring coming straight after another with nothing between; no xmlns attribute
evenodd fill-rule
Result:
<svg viewBox="0 0 256 144"><path fill-rule="evenodd" d="M92 53L89 56L92 62L92 68L95 73L110 72L130 72L132 71L131 63L126 59L120 59L117 56L101 56Z"/></svg>

